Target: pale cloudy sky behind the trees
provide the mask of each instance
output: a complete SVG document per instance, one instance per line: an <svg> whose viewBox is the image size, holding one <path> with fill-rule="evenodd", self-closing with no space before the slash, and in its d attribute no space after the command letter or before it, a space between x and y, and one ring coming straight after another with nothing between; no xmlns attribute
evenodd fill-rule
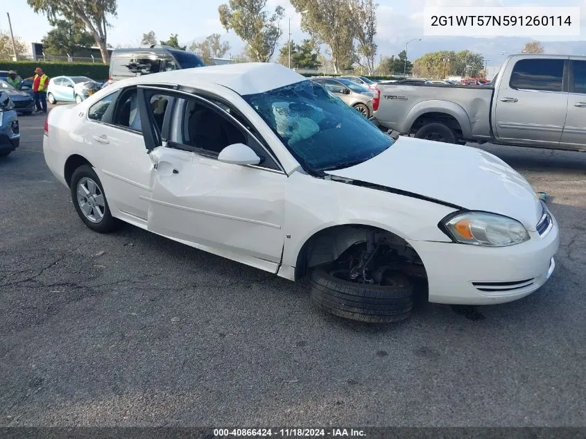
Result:
<svg viewBox="0 0 586 439"><path fill-rule="evenodd" d="M227 3L227 0L118 0L118 17L111 20L112 28L108 33L108 42L114 47L119 44L137 46L142 34L153 30L159 40L166 40L171 33L177 33L180 43L189 45L194 40L203 40L211 33L220 33L230 42L232 56L238 55L243 51L244 44L234 32L227 33L221 26L218 19L218 6L221 3ZM458 46L473 48L476 45L485 47L486 40L490 40L483 38L483 41L480 41L472 37L457 37L456 40L453 37L451 40L448 37L425 37L422 20L424 6L581 6L583 27L580 37L535 38L542 42L586 40L586 0L377 0L377 3L377 43L379 54L383 56L398 53L404 49L405 43L413 38L421 38L422 41L409 44L410 59L417 58L427 51L440 50L438 47L442 48L442 42L446 45L442 49L451 50L449 44L454 42L457 42ZM7 0L2 4L1 31L8 31L6 12L10 13L15 36L21 37L25 42L40 42L51 29L46 17L35 14L26 0ZM268 0L270 10L274 10L277 5L283 6L286 13L281 23L283 36L280 45L286 44L289 19L292 39L301 40L307 37L308 35L304 35L300 30L301 17L295 13L291 3L288 0Z"/></svg>

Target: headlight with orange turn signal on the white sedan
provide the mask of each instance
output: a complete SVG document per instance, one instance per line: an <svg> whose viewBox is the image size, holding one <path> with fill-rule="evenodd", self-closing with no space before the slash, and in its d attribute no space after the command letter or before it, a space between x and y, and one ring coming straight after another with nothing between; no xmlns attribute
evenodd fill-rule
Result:
<svg viewBox="0 0 586 439"><path fill-rule="evenodd" d="M458 243L475 246L514 246L529 239L522 223L508 216L486 212L465 212L442 221L445 230Z"/></svg>

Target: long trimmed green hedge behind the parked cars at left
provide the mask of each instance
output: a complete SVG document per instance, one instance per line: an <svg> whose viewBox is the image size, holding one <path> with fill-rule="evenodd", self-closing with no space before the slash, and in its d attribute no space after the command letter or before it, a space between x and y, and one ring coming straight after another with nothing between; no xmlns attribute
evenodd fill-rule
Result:
<svg viewBox="0 0 586 439"><path fill-rule="evenodd" d="M96 63L72 63L69 62L37 62L37 61L8 61L0 60L0 70L15 70L21 78L28 78L35 74L35 69L40 67L49 78L55 76L87 76L97 81L105 81L108 78L110 66Z"/></svg>

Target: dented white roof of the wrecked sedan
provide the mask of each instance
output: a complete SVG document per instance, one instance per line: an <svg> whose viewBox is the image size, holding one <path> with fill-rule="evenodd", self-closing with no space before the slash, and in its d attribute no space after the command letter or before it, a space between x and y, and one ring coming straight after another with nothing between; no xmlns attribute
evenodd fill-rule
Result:
<svg viewBox="0 0 586 439"><path fill-rule="evenodd" d="M187 87L205 84L223 85L234 92L257 94L309 80L281 64L268 62L242 62L164 71L119 81L120 85L170 83Z"/></svg>

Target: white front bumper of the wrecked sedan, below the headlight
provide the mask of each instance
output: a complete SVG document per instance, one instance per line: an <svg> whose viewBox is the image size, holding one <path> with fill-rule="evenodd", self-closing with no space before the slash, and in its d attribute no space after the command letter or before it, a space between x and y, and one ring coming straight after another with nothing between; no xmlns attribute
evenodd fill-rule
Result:
<svg viewBox="0 0 586 439"><path fill-rule="evenodd" d="M429 302L499 304L540 289L555 269L560 244L558 223L517 246L487 248L466 244L415 241L429 284Z"/></svg>

